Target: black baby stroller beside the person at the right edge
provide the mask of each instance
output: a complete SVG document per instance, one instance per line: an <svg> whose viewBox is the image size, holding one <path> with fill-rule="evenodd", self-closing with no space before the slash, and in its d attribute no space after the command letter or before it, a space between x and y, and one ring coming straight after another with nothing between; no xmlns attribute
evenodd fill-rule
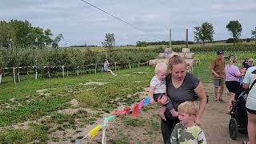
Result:
<svg viewBox="0 0 256 144"><path fill-rule="evenodd" d="M247 112L246 112L246 90L242 88L242 85L236 91L233 107L230 112L230 138L235 140L240 134L247 134Z"/></svg>

